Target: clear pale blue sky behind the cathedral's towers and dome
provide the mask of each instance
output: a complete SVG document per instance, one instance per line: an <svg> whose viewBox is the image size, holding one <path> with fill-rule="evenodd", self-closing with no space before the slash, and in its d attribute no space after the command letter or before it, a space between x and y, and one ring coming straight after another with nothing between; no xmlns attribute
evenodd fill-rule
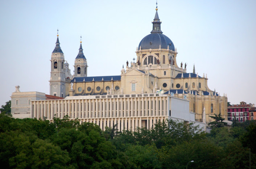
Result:
<svg viewBox="0 0 256 169"><path fill-rule="evenodd" d="M208 86L231 104L256 103L256 1L158 0L163 34L187 73L207 74ZM21 92L49 94L50 59L59 42L74 70L82 36L87 76L120 75L150 34L155 0L1 0L0 105Z"/></svg>

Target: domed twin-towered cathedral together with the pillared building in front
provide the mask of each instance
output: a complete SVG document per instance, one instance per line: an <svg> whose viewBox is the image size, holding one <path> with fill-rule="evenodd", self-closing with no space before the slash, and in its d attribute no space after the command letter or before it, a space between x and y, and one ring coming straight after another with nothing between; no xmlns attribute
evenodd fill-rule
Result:
<svg viewBox="0 0 256 169"><path fill-rule="evenodd" d="M177 64L177 49L163 34L157 10L152 31L137 46L137 59L127 61L119 76L87 77L90 69L87 70L82 41L71 75L57 34L50 60L51 97L31 100L30 118L51 121L68 115L81 122L96 123L103 130L118 124L121 131L150 128L158 120L170 118L206 124L213 121L209 116L220 113L227 119L227 96L209 89L207 75L199 76L195 67L187 73L186 64L184 68L182 63ZM15 105L18 92L11 96L12 114L19 113Z"/></svg>

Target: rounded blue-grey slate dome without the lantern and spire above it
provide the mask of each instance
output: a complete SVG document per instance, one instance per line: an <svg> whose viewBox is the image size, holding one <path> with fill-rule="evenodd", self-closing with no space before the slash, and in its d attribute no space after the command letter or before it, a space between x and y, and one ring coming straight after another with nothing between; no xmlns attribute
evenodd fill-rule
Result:
<svg viewBox="0 0 256 169"><path fill-rule="evenodd" d="M175 51L173 42L170 38L168 38L166 35L162 33L151 33L149 35L146 35L139 44L139 47L141 49L158 49L159 45L161 45L162 49L167 49L169 45L169 49Z"/></svg>

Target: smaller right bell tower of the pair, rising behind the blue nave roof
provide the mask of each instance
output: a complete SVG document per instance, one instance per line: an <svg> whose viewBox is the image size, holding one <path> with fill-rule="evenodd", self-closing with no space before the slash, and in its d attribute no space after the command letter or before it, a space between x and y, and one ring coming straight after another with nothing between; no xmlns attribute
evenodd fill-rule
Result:
<svg viewBox="0 0 256 169"><path fill-rule="evenodd" d="M82 37L80 37L82 39ZM77 57L75 58L74 77L87 77L87 60L83 54L82 41L80 41L80 48Z"/></svg>

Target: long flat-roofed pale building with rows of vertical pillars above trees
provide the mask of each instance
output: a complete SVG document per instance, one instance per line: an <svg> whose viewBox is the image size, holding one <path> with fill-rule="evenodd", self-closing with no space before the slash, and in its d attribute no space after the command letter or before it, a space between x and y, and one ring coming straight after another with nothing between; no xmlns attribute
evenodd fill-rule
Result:
<svg viewBox="0 0 256 169"><path fill-rule="evenodd" d="M173 103L174 108L171 108ZM187 105L187 106L184 106ZM32 101L32 118L44 118L53 121L53 117L78 118L80 122L91 122L100 126L117 129L135 130L137 127L150 129L157 121L168 118L179 119L185 114L190 121L189 102L163 94L118 94L99 96L70 96L64 100ZM169 112L175 117L170 116ZM182 113L179 115L179 113ZM184 113L184 114L183 114ZM194 119L194 118L193 118Z"/></svg>

